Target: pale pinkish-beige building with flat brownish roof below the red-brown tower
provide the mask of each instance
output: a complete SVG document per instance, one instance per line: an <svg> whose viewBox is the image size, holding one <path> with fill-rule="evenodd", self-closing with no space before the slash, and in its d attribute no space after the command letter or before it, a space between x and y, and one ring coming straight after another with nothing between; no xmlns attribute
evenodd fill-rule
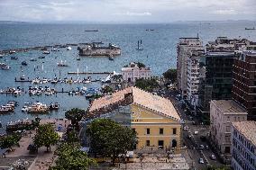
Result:
<svg viewBox="0 0 256 170"><path fill-rule="evenodd" d="M247 112L233 100L213 100L210 103L210 120L211 140L220 156L230 161L232 122L247 121Z"/></svg>

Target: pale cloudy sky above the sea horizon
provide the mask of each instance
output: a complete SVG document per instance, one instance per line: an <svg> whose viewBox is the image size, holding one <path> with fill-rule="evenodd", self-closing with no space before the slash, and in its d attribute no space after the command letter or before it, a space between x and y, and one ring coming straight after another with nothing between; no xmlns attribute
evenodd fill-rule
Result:
<svg viewBox="0 0 256 170"><path fill-rule="evenodd" d="M0 21L256 20L256 0L0 0Z"/></svg>

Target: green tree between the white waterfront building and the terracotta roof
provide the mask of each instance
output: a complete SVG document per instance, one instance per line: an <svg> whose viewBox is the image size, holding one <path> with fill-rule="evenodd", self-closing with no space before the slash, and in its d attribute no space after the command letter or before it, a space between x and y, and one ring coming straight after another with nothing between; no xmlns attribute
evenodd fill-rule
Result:
<svg viewBox="0 0 256 170"><path fill-rule="evenodd" d="M151 78L151 80L140 78L136 80L135 86L141 88L142 90L152 92L155 88L158 88L160 85L154 78Z"/></svg>

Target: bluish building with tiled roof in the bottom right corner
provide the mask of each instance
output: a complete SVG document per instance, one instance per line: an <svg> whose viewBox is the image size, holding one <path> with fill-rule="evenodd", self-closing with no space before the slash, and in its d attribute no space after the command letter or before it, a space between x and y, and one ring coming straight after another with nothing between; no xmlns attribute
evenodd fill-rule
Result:
<svg viewBox="0 0 256 170"><path fill-rule="evenodd" d="M256 169L256 121L232 123L232 167Z"/></svg>

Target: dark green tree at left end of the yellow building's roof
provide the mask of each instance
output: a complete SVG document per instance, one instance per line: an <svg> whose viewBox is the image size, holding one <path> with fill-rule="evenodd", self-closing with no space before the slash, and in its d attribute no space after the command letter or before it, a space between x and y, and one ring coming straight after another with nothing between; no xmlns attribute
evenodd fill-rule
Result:
<svg viewBox="0 0 256 170"><path fill-rule="evenodd" d="M78 122L82 120L85 115L85 110L81 110L78 108L73 108L68 112L65 112L65 118L71 121L71 124L74 125L78 130Z"/></svg>

